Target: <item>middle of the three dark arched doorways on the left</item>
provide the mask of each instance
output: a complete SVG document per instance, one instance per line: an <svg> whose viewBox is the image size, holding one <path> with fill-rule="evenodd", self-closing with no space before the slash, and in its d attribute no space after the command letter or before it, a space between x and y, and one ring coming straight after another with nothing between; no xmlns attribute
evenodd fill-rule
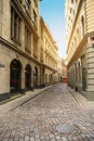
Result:
<svg viewBox="0 0 94 141"><path fill-rule="evenodd" d="M31 84L31 67L30 67L30 65L26 65L26 68L25 68L25 87L26 87L26 89L30 88L30 84Z"/></svg>

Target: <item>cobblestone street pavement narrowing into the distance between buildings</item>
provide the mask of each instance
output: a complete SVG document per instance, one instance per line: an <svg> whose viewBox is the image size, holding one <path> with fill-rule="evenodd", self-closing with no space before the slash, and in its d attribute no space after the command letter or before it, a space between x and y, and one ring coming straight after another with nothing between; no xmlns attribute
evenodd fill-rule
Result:
<svg viewBox="0 0 94 141"><path fill-rule="evenodd" d="M94 141L94 110L57 84L0 116L0 141Z"/></svg>

